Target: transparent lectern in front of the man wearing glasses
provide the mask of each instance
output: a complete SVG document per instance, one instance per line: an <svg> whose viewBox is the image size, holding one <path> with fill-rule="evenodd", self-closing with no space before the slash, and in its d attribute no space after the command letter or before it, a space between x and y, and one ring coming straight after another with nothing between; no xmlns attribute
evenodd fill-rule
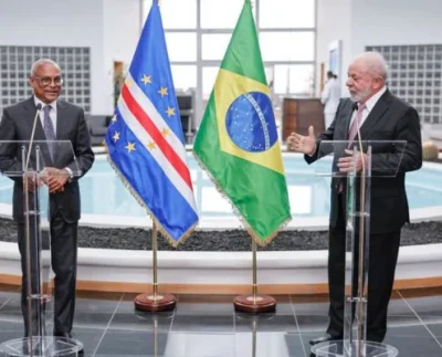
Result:
<svg viewBox="0 0 442 357"><path fill-rule="evenodd" d="M20 251L24 258L22 286L27 303L23 308L27 336L0 345L4 356L77 356L83 344L76 339L54 337L51 271L51 238L49 229L50 176L59 160L69 159L71 179L81 176L71 141L0 141L1 174L19 185L14 188L13 216L24 227ZM54 164L55 162L55 164ZM19 190L17 190L19 189ZM56 195L56 193L54 193Z"/></svg>

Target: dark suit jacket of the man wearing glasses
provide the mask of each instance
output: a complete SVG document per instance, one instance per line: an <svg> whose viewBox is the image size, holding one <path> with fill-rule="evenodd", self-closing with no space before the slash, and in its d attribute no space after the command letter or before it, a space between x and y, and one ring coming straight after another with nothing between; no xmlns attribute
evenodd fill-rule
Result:
<svg viewBox="0 0 442 357"><path fill-rule="evenodd" d="M36 107L33 97L18 103L3 111L0 122L1 140L30 140ZM66 222L80 220L80 187L77 179L84 176L94 162L94 153L91 148L91 137L81 107L59 99L56 102L56 139L70 140L72 149L59 147L52 162L48 148L42 148L42 155L46 167L65 168L73 171L80 169L81 176L74 177L66 183L64 191L50 195L50 214L53 217L59 212ZM45 140L43 126L40 117L35 127L34 140ZM34 153L32 153L34 154ZM32 155L30 166L35 167L35 156ZM21 148L17 144L0 145L0 171L12 172L22 170ZM23 181L20 177L11 177L15 183L13 188L13 218L23 219Z"/></svg>

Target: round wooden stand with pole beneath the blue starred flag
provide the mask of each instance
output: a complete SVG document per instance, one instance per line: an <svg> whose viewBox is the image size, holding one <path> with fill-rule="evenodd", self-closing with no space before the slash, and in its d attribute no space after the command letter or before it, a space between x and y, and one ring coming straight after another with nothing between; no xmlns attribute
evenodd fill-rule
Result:
<svg viewBox="0 0 442 357"><path fill-rule="evenodd" d="M177 305L177 300L171 294L158 294L158 264L157 264L157 222L152 220L152 261L154 261L154 293L139 294L135 297L135 308L147 312L159 312L173 309Z"/></svg>

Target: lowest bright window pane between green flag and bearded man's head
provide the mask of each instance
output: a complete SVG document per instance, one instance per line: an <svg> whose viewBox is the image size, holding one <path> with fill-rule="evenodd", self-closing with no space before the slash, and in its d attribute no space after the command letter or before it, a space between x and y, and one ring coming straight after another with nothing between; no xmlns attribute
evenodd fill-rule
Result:
<svg viewBox="0 0 442 357"><path fill-rule="evenodd" d="M274 91L277 94L314 95L314 65L275 65Z"/></svg>

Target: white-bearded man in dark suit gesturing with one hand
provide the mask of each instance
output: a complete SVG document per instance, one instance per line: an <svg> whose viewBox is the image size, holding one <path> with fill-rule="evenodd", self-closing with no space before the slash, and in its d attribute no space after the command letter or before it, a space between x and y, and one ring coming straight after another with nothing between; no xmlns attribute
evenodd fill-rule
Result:
<svg viewBox="0 0 442 357"><path fill-rule="evenodd" d="M406 172L422 166L420 120L417 111L392 95L387 86L387 64L376 52L357 56L348 69L347 86L351 98L340 101L336 116L325 133L315 138L313 127L308 136L293 133L288 146L305 154L308 164L318 158L320 140L406 140L399 164L398 156L372 155L372 170L399 165L394 178L371 178L370 249L367 306L367 339L382 342L387 332L387 311L394 281L400 245L400 232L409 222L406 193ZM355 126L352 125L355 124ZM351 151L336 158L333 170L352 170ZM362 168L366 154L359 155L356 169ZM341 339L344 329L345 240L346 240L346 180L332 180L329 221L329 325L325 336L311 340L312 345ZM357 232L357 231L356 231Z"/></svg>

